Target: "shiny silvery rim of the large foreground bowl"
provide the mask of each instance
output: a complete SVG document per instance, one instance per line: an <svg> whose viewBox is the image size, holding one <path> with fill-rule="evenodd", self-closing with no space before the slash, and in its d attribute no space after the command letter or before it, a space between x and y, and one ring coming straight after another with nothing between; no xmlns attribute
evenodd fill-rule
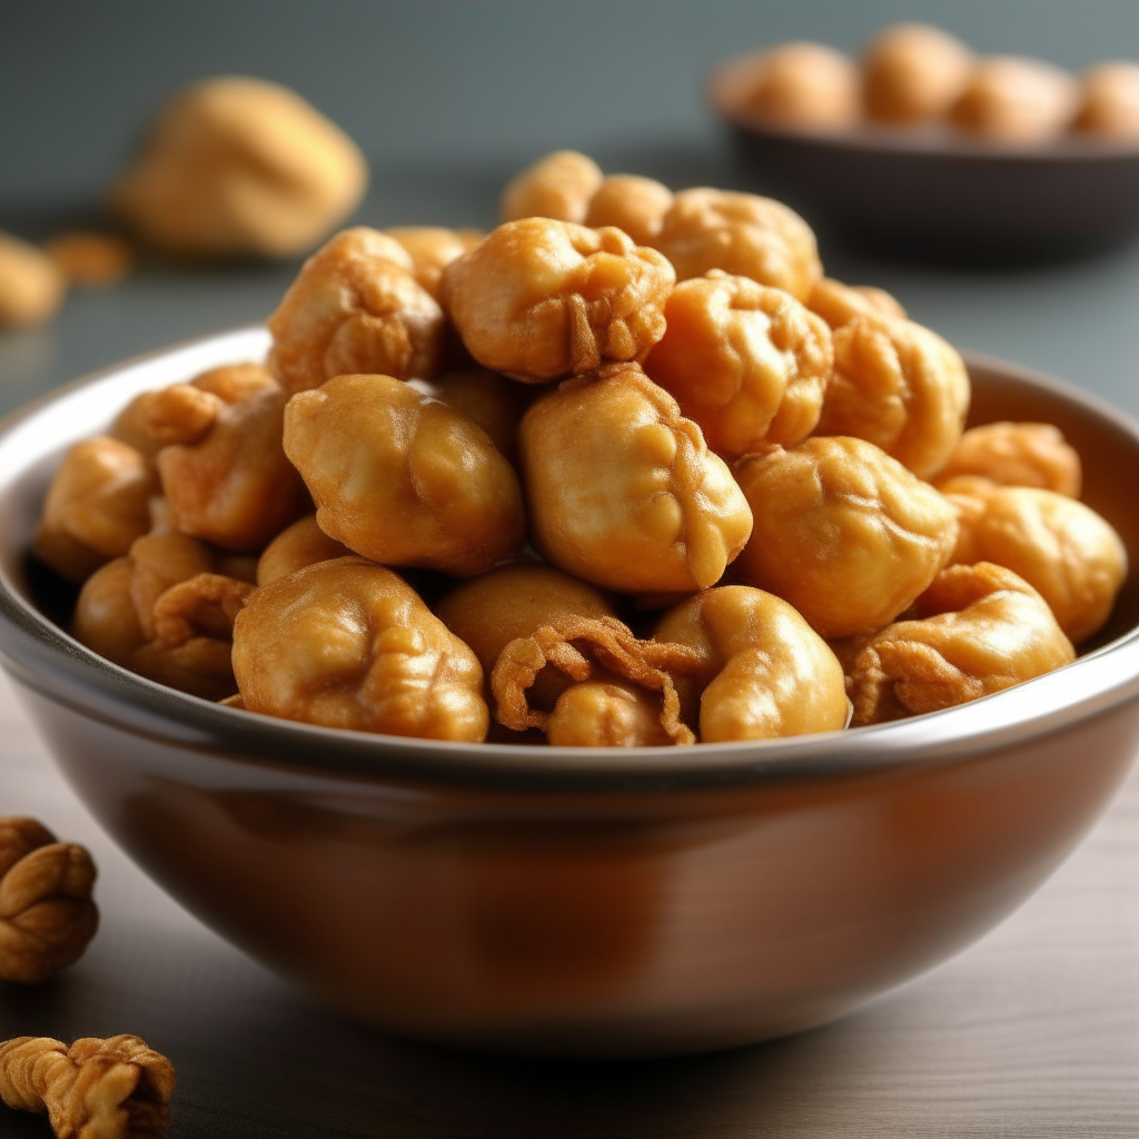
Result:
<svg viewBox="0 0 1139 1139"><path fill-rule="evenodd" d="M109 387L129 375L149 371L155 372L151 386L177 383L189 378L178 370L182 358L200 362L204 354L216 363L233 362L248 359L257 345L263 351L268 343L263 326L243 326L81 377L0 420L0 461L16 432L31 428L57 404L66 405L88 388ZM1003 360L980 353L964 355L970 368L999 372L1081 405L1139 449L1139 423L1098 396ZM38 453L34 461L42 461L51 453L51 445L41 446ZM22 470L26 473L33 465L28 461ZM0 497L13 493L11 484L19 475L16 470L0 481ZM26 550L14 550L13 556L26 556ZM138 677L98 656L40 613L6 565L0 565L0 663L25 686L87 715L231 760L284 764L312 775L533 792L637 794L860 776L908 764L951 762L1030 743L1139 695L1139 626L1070 665L969 704L849 731L691 747L462 744L322 728L224 707Z"/></svg>

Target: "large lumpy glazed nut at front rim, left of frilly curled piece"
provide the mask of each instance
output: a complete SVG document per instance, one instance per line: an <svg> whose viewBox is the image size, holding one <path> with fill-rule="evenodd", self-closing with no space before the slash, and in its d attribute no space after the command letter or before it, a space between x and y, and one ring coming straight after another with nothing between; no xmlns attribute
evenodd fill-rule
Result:
<svg viewBox="0 0 1139 1139"><path fill-rule="evenodd" d="M246 711L426 739L480 743L483 670L415 590L359 557L262 585L233 628Z"/></svg>

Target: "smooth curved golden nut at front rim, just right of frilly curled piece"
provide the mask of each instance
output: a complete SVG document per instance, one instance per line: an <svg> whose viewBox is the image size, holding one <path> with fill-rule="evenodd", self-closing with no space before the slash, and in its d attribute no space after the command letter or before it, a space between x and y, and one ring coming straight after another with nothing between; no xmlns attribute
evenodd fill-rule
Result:
<svg viewBox="0 0 1139 1139"><path fill-rule="evenodd" d="M846 723L842 665L786 601L746 585L698 593L664 615L654 638L685 645L699 671L680 678L685 718L705 744L837 731Z"/></svg>

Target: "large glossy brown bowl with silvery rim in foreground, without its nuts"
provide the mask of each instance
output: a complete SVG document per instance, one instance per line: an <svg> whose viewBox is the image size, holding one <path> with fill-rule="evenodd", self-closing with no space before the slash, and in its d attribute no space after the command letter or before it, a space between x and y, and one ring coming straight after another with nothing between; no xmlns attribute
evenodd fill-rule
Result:
<svg viewBox="0 0 1139 1139"><path fill-rule="evenodd" d="M973 704L688 748L461 745L272 720L100 659L32 601L64 448L261 329L124 364L0 432L0 661L99 821L202 920L347 1016L509 1052L724 1048L841 1016L1019 904L1139 738L1139 588L1101 647ZM1139 427L997 361L977 421L1050 420L1139 555ZM113 920L113 915L108 920Z"/></svg>

